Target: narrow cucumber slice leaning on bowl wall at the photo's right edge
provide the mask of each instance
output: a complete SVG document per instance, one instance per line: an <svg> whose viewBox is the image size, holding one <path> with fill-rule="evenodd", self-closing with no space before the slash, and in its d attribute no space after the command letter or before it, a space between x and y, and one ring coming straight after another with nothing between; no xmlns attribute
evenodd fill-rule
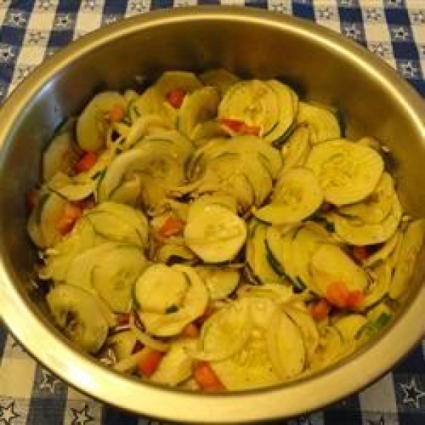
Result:
<svg viewBox="0 0 425 425"><path fill-rule="evenodd" d="M395 271L388 291L388 294L393 300L397 300L408 291L409 280L414 271L414 264L424 243L424 232L425 220L416 220L409 223L403 235L397 255L397 262L395 263Z"/></svg>

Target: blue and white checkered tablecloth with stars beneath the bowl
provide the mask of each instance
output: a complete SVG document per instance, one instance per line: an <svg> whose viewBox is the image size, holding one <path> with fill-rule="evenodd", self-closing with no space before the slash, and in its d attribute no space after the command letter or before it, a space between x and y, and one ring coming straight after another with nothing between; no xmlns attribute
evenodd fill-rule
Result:
<svg viewBox="0 0 425 425"><path fill-rule="evenodd" d="M155 8L196 4L268 8L316 21L382 57L425 96L425 0L0 0L0 101L42 60L89 31ZM79 394L0 324L0 425L21 424L161 423ZM425 425L425 342L367 390L288 421L301 424Z"/></svg>

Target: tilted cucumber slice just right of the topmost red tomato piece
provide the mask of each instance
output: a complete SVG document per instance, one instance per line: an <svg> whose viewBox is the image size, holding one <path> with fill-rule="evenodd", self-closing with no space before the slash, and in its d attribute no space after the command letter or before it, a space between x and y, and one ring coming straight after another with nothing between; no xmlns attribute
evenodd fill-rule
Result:
<svg viewBox="0 0 425 425"><path fill-rule="evenodd" d="M217 115L220 96L217 89L203 87L184 97L177 114L177 128L183 135L191 137L196 125Z"/></svg>

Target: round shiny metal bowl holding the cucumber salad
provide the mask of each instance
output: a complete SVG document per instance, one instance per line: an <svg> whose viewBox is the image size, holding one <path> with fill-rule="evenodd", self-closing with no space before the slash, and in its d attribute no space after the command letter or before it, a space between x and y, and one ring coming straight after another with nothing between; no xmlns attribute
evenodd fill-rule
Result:
<svg viewBox="0 0 425 425"><path fill-rule="evenodd" d="M79 390L138 414L237 423L295 416L356 392L389 370L425 330L425 262L419 261L397 320L378 341L318 375L228 395L179 392L118 375L72 348L52 326L30 283L35 250L26 235L26 189L38 181L43 146L64 117L96 91L135 76L213 66L284 77L308 98L339 105L349 134L373 135L397 158L402 202L425 217L425 108L381 60L312 23L247 8L184 8L121 21L72 43L18 87L0 113L0 312L41 363Z"/></svg>

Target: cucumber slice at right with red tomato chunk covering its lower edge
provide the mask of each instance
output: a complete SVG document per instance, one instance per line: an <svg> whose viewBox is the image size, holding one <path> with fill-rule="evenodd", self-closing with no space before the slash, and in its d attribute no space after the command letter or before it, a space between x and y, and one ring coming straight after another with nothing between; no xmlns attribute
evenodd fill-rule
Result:
<svg viewBox="0 0 425 425"><path fill-rule="evenodd" d="M310 273L320 295L326 295L327 287L334 282L344 282L348 290L368 287L368 276L338 246L322 244L313 254Z"/></svg>

